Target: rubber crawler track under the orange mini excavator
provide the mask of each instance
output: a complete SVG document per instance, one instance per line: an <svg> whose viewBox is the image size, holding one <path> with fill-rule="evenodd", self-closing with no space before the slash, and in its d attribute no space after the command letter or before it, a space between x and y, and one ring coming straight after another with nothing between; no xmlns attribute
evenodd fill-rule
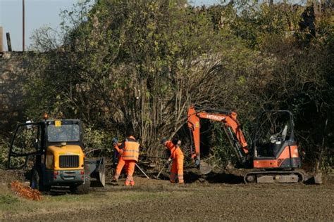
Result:
<svg viewBox="0 0 334 222"><path fill-rule="evenodd" d="M302 183L303 171L251 171L244 176L245 183Z"/></svg>

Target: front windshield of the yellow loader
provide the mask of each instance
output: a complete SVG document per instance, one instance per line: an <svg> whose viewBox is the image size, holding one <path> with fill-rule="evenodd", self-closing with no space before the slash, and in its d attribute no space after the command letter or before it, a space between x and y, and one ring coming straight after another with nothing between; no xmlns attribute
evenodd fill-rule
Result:
<svg viewBox="0 0 334 222"><path fill-rule="evenodd" d="M47 140L49 142L76 142L80 141L80 126L78 124L62 124L47 126Z"/></svg>

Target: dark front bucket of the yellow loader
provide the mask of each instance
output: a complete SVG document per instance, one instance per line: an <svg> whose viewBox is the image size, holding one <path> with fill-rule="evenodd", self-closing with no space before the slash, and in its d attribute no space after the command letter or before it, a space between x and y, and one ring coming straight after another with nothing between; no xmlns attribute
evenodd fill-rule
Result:
<svg viewBox="0 0 334 222"><path fill-rule="evenodd" d="M106 160L104 157L85 159L85 169L90 176L91 187L106 185Z"/></svg>

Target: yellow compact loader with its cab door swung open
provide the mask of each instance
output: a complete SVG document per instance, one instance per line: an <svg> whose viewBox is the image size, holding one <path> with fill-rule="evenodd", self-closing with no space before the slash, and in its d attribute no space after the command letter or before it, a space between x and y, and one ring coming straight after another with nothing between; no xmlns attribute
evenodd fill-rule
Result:
<svg viewBox="0 0 334 222"><path fill-rule="evenodd" d="M85 159L79 119L44 119L18 124L11 141L8 169L31 167L30 187L41 191L69 188L87 193L105 184L104 158Z"/></svg>

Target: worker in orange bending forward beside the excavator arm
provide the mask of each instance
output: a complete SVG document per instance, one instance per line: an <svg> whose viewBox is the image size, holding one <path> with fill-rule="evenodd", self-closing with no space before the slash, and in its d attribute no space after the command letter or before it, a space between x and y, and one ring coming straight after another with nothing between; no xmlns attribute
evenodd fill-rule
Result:
<svg viewBox="0 0 334 222"><path fill-rule="evenodd" d="M174 143L173 143L174 142ZM183 181L183 159L184 155L180 148L181 141L168 141L166 138L163 138L161 143L171 152L171 156L166 162L166 166L169 166L171 160L173 159L173 164L171 168L171 174L169 180L171 183L175 183L178 179L178 183L185 183Z"/></svg>

